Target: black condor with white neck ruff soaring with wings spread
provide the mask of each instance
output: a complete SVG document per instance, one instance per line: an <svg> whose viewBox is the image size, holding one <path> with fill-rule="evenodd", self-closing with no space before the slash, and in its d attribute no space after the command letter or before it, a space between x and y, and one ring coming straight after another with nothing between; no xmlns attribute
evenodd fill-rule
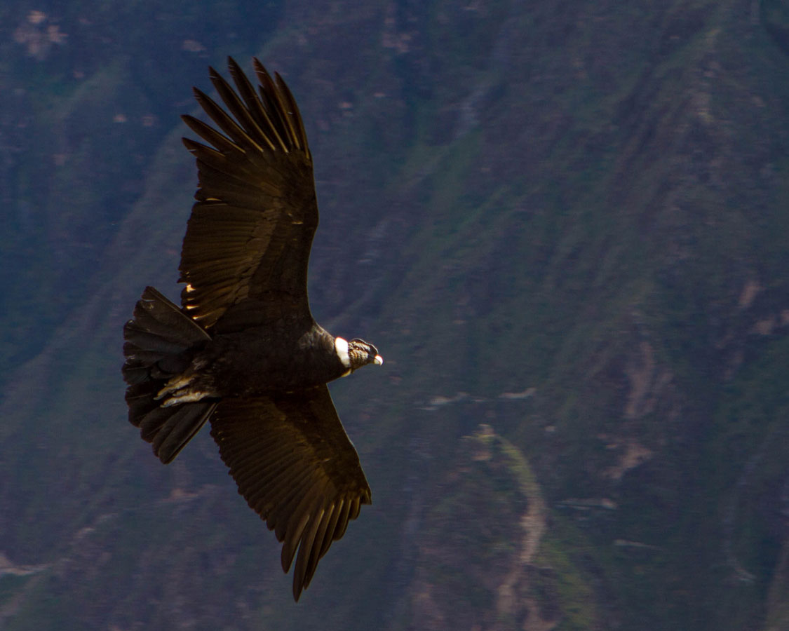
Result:
<svg viewBox="0 0 789 631"><path fill-rule="evenodd" d="M326 384L383 359L312 317L312 156L282 77L253 64L257 90L232 58L235 89L209 69L224 107L194 88L215 126L181 117L206 143L183 140L199 184L181 248L181 306L144 290L123 329L123 377L129 421L163 463L210 421L238 492L282 542L285 572L296 556L298 600L371 502Z"/></svg>

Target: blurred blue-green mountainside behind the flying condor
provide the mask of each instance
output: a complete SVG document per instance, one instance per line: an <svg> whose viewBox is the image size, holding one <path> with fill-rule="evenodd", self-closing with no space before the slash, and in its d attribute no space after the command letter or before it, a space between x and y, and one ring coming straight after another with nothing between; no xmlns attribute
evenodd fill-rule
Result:
<svg viewBox="0 0 789 631"><path fill-rule="evenodd" d="M0 628L789 629L783 0L0 6ZM178 114L305 118L373 505L301 602L208 431L126 421L178 297Z"/></svg>

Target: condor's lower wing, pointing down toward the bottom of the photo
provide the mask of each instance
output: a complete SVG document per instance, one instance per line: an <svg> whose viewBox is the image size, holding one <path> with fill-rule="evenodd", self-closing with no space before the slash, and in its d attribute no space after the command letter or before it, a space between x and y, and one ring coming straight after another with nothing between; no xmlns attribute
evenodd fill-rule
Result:
<svg viewBox="0 0 789 631"><path fill-rule="evenodd" d="M252 510L282 541L287 572L298 548L294 598L332 541L371 502L359 456L327 386L255 399L225 399L211 436Z"/></svg>

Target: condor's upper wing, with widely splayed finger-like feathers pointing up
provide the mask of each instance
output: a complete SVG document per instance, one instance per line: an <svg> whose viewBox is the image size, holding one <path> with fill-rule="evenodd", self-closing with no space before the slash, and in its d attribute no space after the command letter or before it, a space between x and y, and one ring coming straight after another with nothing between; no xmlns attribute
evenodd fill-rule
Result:
<svg viewBox="0 0 789 631"><path fill-rule="evenodd" d="M213 69L225 110L194 88L215 123L183 120L211 146L184 139L197 160L197 202L181 249L181 304L211 329L249 298L282 301L309 315L307 265L318 226L312 157L285 82L254 59L259 92L228 59L236 90Z"/></svg>

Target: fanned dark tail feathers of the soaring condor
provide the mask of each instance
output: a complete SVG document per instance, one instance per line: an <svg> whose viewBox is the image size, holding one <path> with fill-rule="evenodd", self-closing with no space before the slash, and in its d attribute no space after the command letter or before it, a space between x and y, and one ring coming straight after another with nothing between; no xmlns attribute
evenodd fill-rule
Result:
<svg viewBox="0 0 789 631"><path fill-rule="evenodd" d="M123 379L129 384L126 403L129 422L165 464L203 427L215 401L197 401L162 407L157 394L174 376L189 367L192 350L211 336L173 302L153 287L146 287L123 327Z"/></svg>

